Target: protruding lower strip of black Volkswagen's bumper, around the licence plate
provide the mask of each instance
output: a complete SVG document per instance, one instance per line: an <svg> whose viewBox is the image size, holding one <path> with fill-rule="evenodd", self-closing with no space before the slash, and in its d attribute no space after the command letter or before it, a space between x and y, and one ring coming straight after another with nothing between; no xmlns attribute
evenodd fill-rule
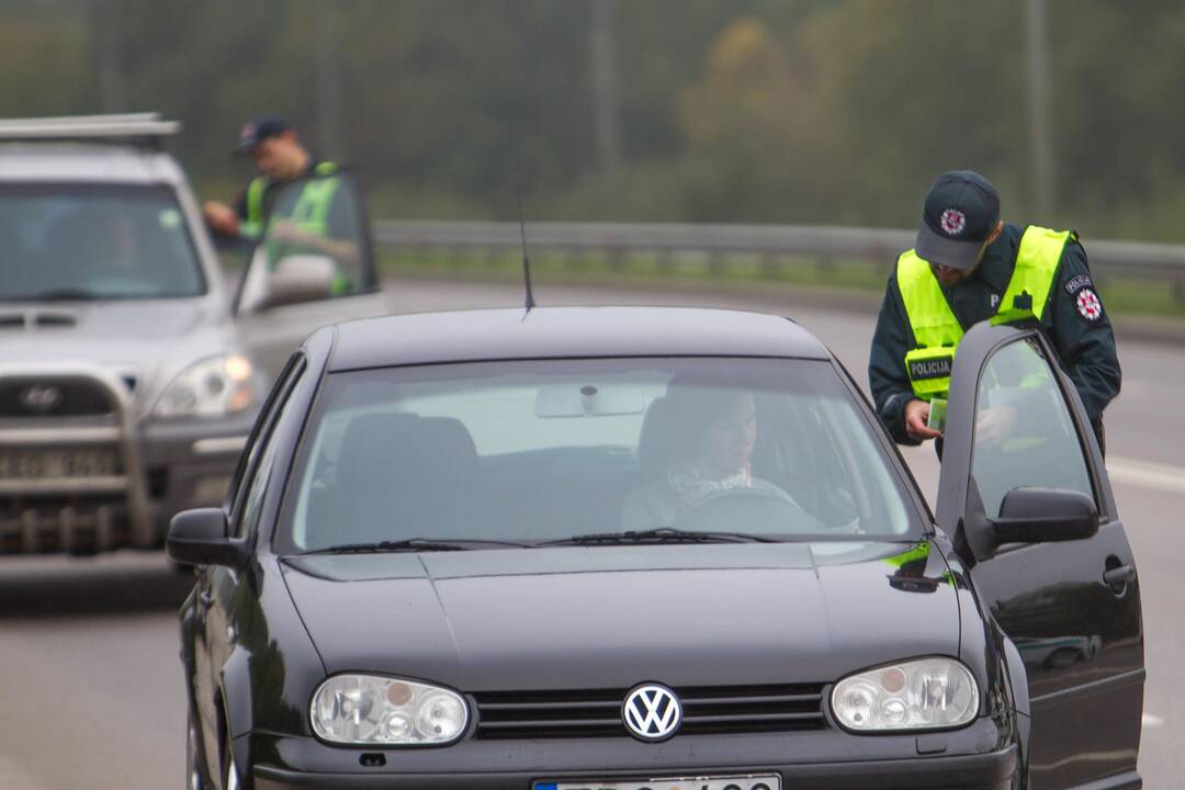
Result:
<svg viewBox="0 0 1185 790"><path fill-rule="evenodd" d="M896 760L845 763L801 763L728 765L678 769L662 766L648 773L638 771L589 772L482 772L404 773L366 776L361 773L305 773L267 765L255 769L256 790L297 788L416 788L417 790L531 790L538 779L647 779L661 776L728 776L736 773L779 773L783 790L1011 790L1019 765L1017 747L987 754L960 757L915 757ZM595 786L595 785L590 785Z"/></svg>

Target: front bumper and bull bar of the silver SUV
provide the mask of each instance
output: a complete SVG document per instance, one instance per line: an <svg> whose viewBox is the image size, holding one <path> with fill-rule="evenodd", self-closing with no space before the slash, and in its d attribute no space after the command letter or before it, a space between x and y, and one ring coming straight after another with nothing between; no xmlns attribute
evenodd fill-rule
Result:
<svg viewBox="0 0 1185 790"><path fill-rule="evenodd" d="M162 546L178 510L222 503L255 418L250 410L225 419L137 422L124 385L97 368L0 370L0 381L5 377L85 387L109 410L6 416L0 447L15 452L94 449L114 454L116 465L94 476L0 477L0 554Z"/></svg>

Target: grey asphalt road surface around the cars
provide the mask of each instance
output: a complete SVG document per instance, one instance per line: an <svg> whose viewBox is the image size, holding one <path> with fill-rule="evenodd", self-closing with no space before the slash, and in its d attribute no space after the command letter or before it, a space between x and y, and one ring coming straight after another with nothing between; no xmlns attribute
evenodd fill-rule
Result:
<svg viewBox="0 0 1185 790"><path fill-rule="evenodd" d="M795 317L865 379L873 316L766 295L628 293L537 284L540 304L680 303ZM515 306L508 285L402 283L392 310ZM1123 393L1107 412L1108 468L1144 592L1145 786L1179 788L1185 753L1185 353L1119 339ZM929 496L933 450L907 451ZM184 694L175 609L191 580L160 554L0 560L0 788L181 786Z"/></svg>

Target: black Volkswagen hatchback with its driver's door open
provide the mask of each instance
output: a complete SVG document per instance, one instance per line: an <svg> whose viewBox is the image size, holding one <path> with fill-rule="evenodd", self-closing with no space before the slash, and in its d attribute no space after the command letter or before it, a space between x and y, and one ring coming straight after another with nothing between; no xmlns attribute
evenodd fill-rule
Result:
<svg viewBox="0 0 1185 790"><path fill-rule="evenodd" d="M1055 359L965 336L931 515L786 319L321 329L173 520L187 781L1139 788L1139 584Z"/></svg>

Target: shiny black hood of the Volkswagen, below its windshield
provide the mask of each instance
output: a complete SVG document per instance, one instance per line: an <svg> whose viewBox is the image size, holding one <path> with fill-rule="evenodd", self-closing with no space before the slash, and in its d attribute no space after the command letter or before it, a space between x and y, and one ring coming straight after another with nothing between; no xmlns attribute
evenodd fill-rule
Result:
<svg viewBox="0 0 1185 790"><path fill-rule="evenodd" d="M470 692L827 682L959 651L929 542L309 555L284 578L328 673Z"/></svg>

